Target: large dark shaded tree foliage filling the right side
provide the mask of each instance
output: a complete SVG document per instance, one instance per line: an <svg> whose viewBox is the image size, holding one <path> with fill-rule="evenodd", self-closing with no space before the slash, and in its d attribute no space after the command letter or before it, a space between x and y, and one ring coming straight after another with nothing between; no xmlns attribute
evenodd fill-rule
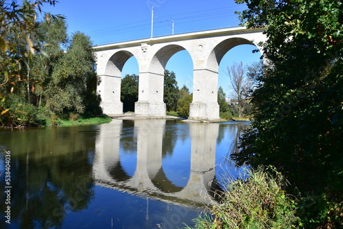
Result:
<svg viewBox="0 0 343 229"><path fill-rule="evenodd" d="M342 1L250 1L240 18L265 27L268 60L252 95L257 106L239 165L275 165L301 193L305 226L342 227ZM290 190L292 191L292 190ZM308 206L308 205L307 205Z"/></svg>

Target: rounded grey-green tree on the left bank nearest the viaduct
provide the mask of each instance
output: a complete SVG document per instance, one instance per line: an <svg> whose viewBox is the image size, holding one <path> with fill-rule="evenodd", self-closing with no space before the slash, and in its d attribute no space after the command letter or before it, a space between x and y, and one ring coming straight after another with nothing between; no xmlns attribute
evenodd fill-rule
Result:
<svg viewBox="0 0 343 229"><path fill-rule="evenodd" d="M53 112L84 112L86 81L95 77L92 46L88 36L76 32L67 51L54 64L45 91L46 106Z"/></svg>

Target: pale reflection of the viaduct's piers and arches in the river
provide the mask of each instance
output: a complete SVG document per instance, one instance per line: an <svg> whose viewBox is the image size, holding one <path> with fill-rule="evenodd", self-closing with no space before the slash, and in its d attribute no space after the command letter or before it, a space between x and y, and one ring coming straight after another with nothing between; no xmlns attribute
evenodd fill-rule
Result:
<svg viewBox="0 0 343 229"><path fill-rule="evenodd" d="M123 121L100 125L96 142L94 176L98 183L115 189L145 193L173 202L211 202L211 181L215 177L215 147L218 123L189 123L191 135L191 171L187 185L176 186L168 180L162 166L165 119L137 119L137 165L134 175L127 176L119 160L119 143Z"/></svg>

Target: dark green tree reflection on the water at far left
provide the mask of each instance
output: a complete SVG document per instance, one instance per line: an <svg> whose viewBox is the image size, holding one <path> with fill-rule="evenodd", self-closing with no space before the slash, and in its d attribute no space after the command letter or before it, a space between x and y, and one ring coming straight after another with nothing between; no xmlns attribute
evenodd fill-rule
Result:
<svg viewBox="0 0 343 229"><path fill-rule="evenodd" d="M92 132L83 128L25 130L2 134L11 151L11 223L19 228L62 226L64 216L88 206L93 174L88 152ZM88 127L89 129L89 127ZM93 141L90 141L93 140ZM1 202L4 179L0 180ZM0 217L4 219L1 204ZM0 228L7 228L1 220Z"/></svg>

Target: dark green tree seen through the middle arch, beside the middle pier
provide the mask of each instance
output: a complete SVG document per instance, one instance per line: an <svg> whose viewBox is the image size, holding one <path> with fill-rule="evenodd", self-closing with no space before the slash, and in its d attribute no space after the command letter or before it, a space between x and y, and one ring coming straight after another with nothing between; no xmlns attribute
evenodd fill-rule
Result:
<svg viewBox="0 0 343 229"><path fill-rule="evenodd" d="M165 70L165 81L163 88L163 101L167 111L176 111L178 104L178 82L173 71Z"/></svg>

